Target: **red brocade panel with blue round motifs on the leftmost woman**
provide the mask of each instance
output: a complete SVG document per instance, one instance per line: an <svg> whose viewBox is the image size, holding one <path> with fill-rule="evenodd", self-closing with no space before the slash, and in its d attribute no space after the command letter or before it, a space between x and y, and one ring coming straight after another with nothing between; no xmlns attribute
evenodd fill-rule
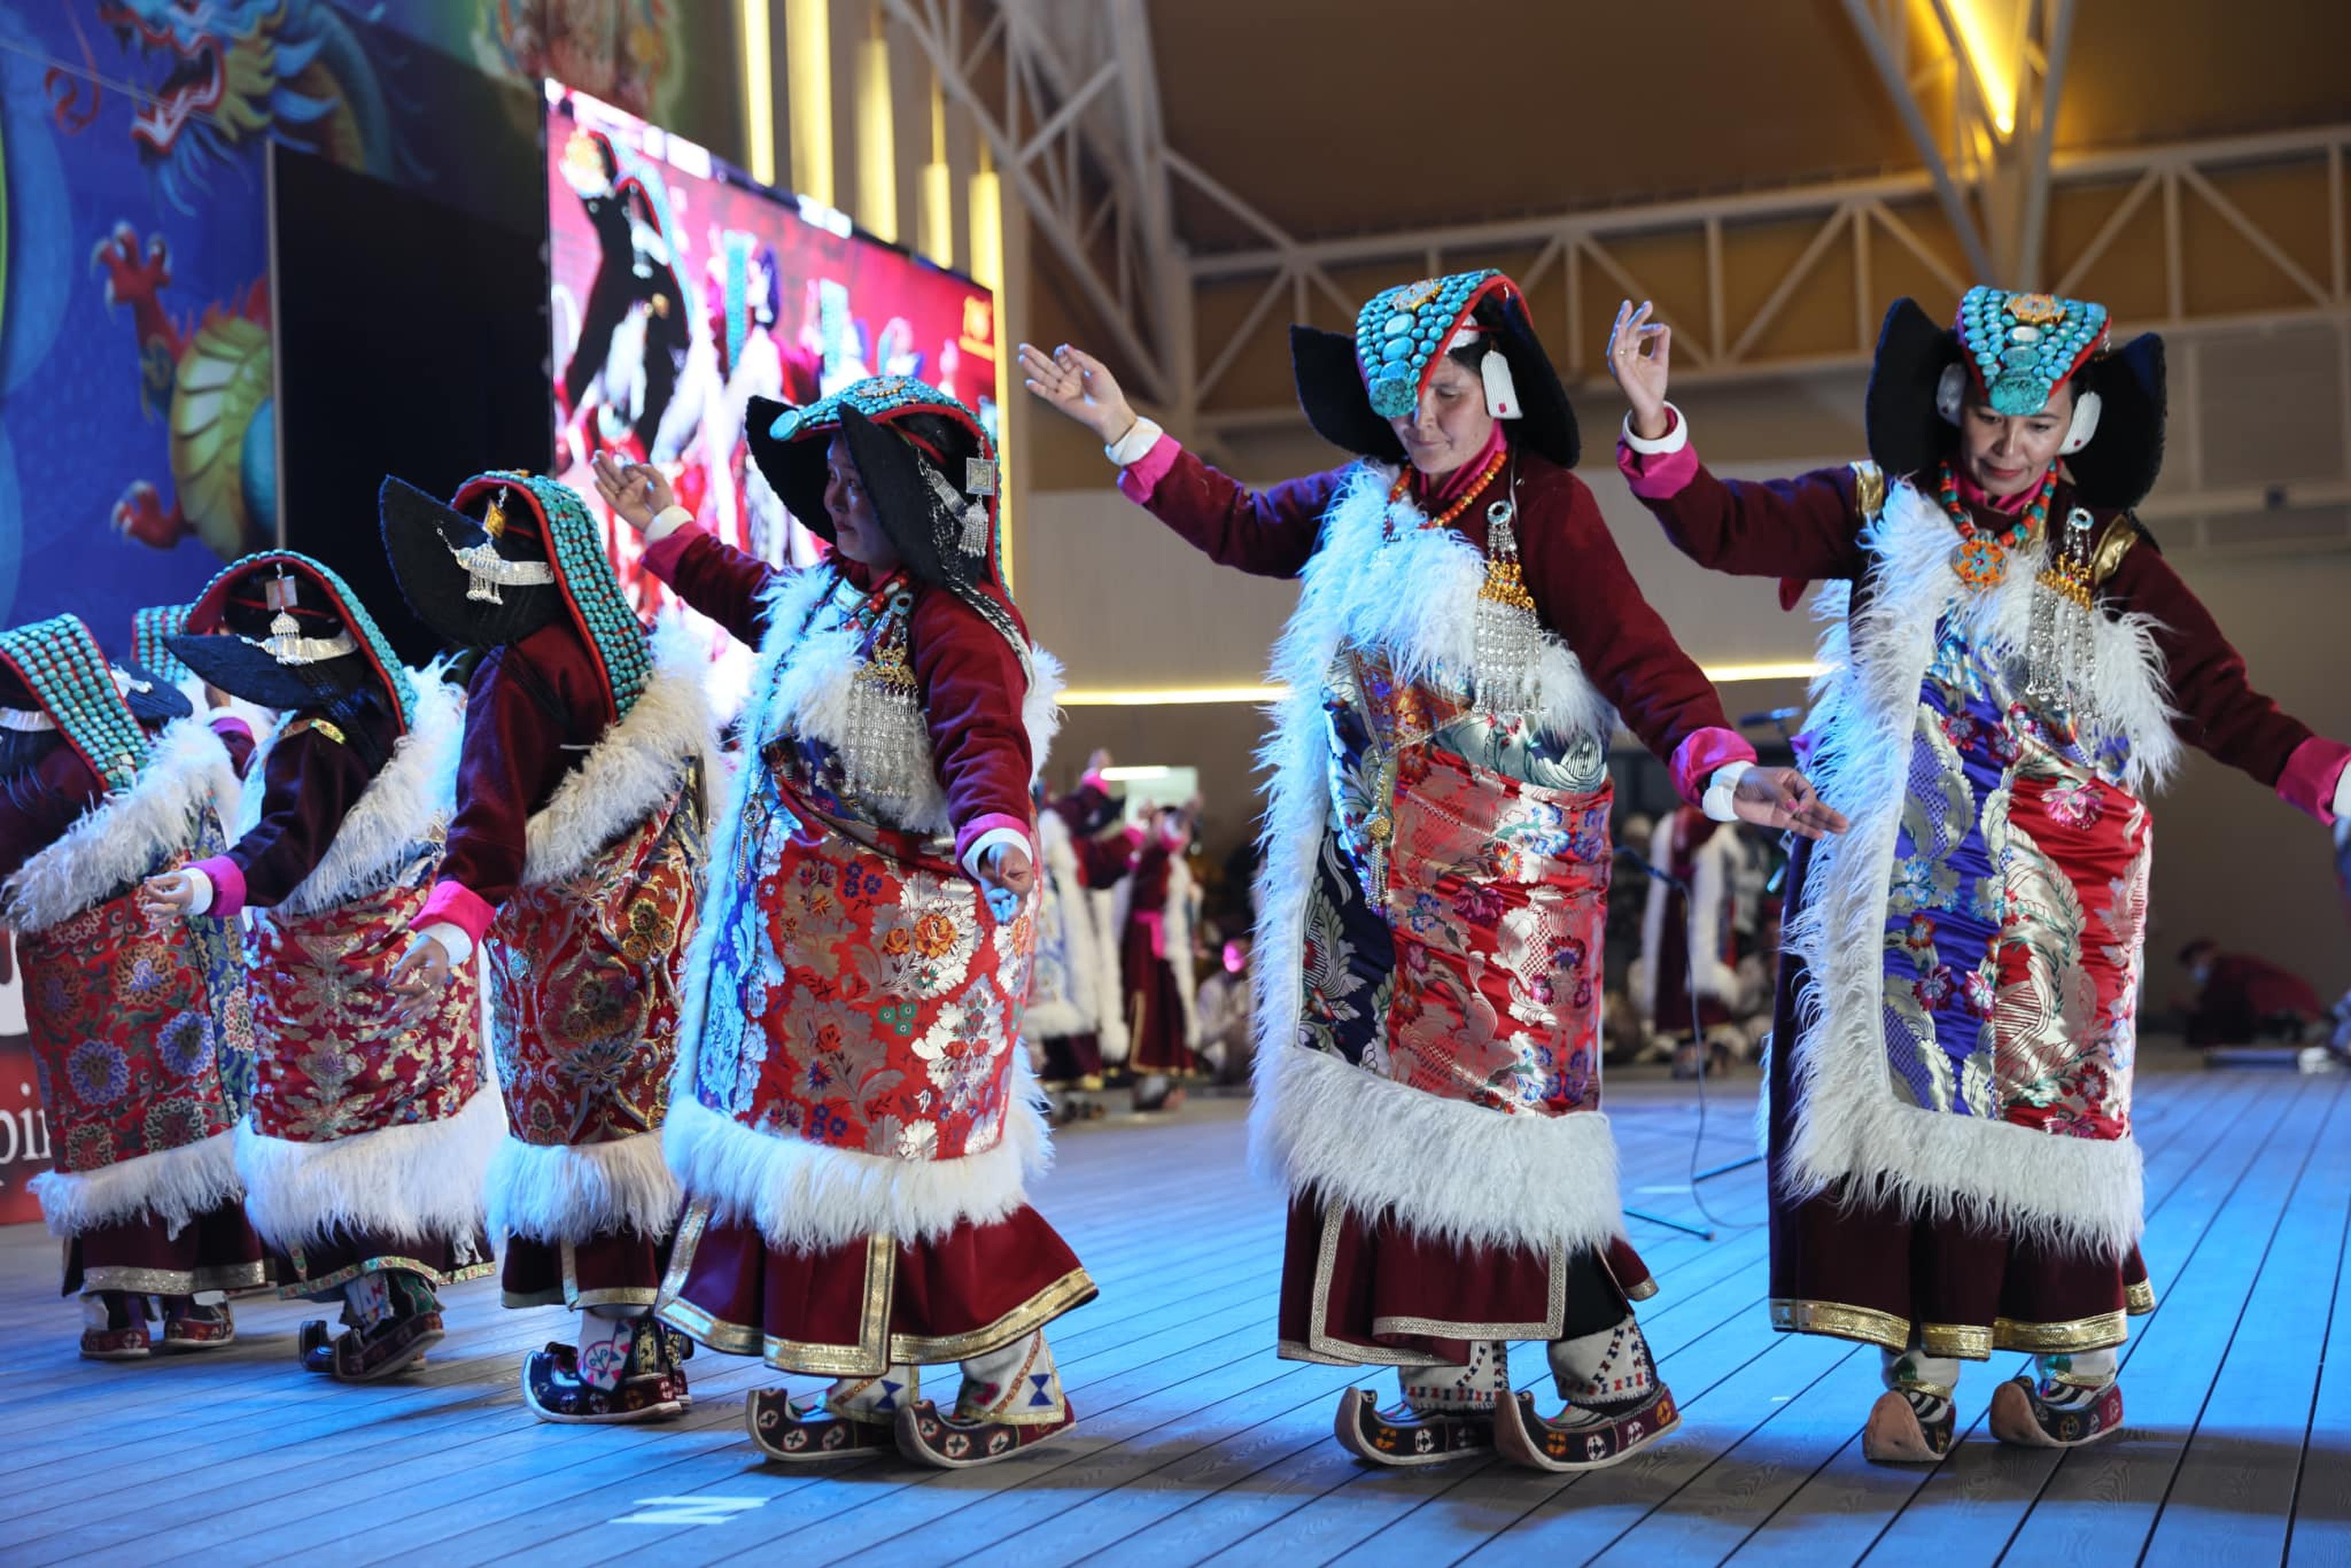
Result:
<svg viewBox="0 0 2351 1568"><path fill-rule="evenodd" d="M16 936L26 1030L59 1171L202 1143L235 1124L200 952L139 889Z"/></svg>

